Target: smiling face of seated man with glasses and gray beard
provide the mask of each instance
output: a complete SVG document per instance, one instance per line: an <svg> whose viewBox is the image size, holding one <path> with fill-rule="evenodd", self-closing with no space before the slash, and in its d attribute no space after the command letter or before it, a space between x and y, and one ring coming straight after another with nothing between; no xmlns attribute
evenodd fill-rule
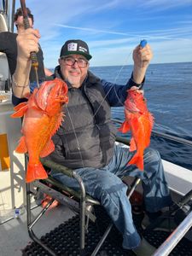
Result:
<svg viewBox="0 0 192 256"><path fill-rule="evenodd" d="M59 63L63 78L73 87L79 88L87 75L89 62L83 55L67 55L61 57Z"/></svg>

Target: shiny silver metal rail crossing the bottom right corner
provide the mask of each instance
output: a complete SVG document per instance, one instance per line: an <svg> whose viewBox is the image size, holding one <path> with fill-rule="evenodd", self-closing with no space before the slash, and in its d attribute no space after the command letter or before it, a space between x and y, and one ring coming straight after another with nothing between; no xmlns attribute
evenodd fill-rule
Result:
<svg viewBox="0 0 192 256"><path fill-rule="evenodd" d="M177 226L177 229L166 238L161 246L154 252L153 256L166 256L172 252L172 249L177 246L177 243L183 238L187 231L192 226L192 212L183 219L183 222Z"/></svg>

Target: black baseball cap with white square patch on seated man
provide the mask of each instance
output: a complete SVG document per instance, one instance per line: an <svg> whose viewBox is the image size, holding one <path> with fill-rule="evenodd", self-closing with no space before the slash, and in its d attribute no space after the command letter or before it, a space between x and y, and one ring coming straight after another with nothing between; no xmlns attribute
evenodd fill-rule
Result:
<svg viewBox="0 0 192 256"><path fill-rule="evenodd" d="M84 55L88 61L92 58L88 45L79 39L67 40L66 43L63 44L60 57L66 55Z"/></svg>

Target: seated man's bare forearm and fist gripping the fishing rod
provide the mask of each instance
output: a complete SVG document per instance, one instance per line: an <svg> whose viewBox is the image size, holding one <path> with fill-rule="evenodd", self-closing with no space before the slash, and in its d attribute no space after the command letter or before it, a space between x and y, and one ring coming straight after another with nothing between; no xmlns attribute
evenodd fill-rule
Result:
<svg viewBox="0 0 192 256"><path fill-rule="evenodd" d="M28 28L18 34L17 40L17 66L12 77L13 93L18 98L25 97L29 92L29 73L32 66L30 53L38 52L38 30Z"/></svg>

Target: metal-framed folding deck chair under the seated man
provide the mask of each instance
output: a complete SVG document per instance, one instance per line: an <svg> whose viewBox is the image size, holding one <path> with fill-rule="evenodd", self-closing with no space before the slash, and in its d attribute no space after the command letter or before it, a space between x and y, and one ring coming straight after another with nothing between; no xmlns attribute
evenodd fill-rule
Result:
<svg viewBox="0 0 192 256"><path fill-rule="evenodd" d="M126 145L129 144L128 140L122 139L120 137L117 137L116 139L119 143L125 143ZM53 201L57 200L61 204L67 206L73 212L76 212L79 214L79 230L80 230L80 236L79 236L79 254L84 255L84 244L85 244L85 233L88 229L88 223L89 219L93 222L96 221L96 216L91 212L89 209L92 206L99 206L100 202L96 201L94 198L90 197L90 195L86 194L84 183L81 177L78 173L75 171L65 167L61 166L59 164L56 164L53 161L50 160L41 160L43 165L48 168L53 168L56 172L62 172L63 174L67 175L68 177L75 178L79 183L79 191L70 189L64 184L58 182L53 177L48 177L45 180L37 180L33 182L32 184L26 183L26 214L27 214L27 230L29 233L29 236L32 238L33 241L37 242L41 247L44 247L44 249L49 252L50 255L56 255L55 252L49 248L47 245L41 241L38 236L34 234L34 231L32 230L33 226L38 222L38 220L44 215L44 212L46 212ZM129 194L127 195L128 198L131 197L133 191L136 189L137 184L140 182L140 178L135 178L133 183L131 184L131 190L129 191ZM52 200L49 201L46 207L38 214L38 216L34 219L32 219L31 214L31 195L32 195L32 187L36 187L39 189L42 193L45 193L49 195ZM64 193L63 193L64 191ZM72 195L73 198L71 198ZM86 221L86 223L85 223ZM96 253L99 252L100 248L102 247L103 242L108 237L108 234L110 230L112 229L113 224L110 223L108 225L107 230L105 230L104 234L102 235L102 238L100 241L96 244L96 247L94 248L93 252L89 256L95 256Z"/></svg>

